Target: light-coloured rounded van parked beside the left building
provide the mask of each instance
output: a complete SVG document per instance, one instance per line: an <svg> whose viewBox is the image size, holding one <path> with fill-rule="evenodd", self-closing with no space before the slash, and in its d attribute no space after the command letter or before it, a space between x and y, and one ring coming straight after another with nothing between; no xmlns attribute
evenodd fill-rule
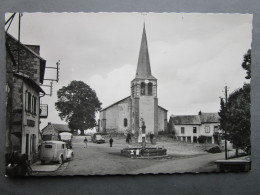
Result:
<svg viewBox="0 0 260 195"><path fill-rule="evenodd" d="M67 147L67 144L62 141L45 141L41 145L40 160L45 162L63 163L65 160L72 160L74 153Z"/></svg>

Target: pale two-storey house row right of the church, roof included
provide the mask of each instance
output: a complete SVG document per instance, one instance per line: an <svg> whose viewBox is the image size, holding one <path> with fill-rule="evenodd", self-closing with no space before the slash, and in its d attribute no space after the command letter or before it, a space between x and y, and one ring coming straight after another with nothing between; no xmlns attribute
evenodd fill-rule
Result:
<svg viewBox="0 0 260 195"><path fill-rule="evenodd" d="M218 113L199 112L198 115L172 115L169 123L180 141L198 142L200 136L205 136L208 143L215 143L214 133L220 133Z"/></svg>

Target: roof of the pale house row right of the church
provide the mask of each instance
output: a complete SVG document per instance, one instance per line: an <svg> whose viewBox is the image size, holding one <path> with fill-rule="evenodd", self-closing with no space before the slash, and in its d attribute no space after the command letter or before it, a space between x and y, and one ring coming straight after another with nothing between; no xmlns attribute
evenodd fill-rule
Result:
<svg viewBox="0 0 260 195"><path fill-rule="evenodd" d="M202 123L219 123L218 113L201 112L198 115L172 115L175 125L200 125Z"/></svg>

